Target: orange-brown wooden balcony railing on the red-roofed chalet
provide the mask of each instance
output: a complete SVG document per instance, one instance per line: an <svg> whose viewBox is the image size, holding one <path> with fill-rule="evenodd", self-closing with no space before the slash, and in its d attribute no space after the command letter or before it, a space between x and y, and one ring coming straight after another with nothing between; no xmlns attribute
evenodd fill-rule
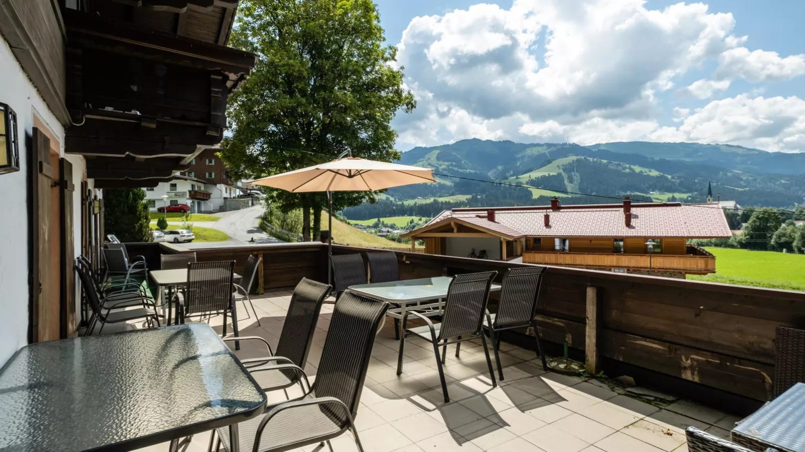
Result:
<svg viewBox="0 0 805 452"><path fill-rule="evenodd" d="M695 247L694 247L695 248ZM701 250L704 251L704 250ZM707 253L704 251L704 253ZM572 265L600 267L601 269L657 269L687 273L716 271L716 257L712 254L625 254L625 253L573 253L526 251L522 261L527 264Z"/></svg>

